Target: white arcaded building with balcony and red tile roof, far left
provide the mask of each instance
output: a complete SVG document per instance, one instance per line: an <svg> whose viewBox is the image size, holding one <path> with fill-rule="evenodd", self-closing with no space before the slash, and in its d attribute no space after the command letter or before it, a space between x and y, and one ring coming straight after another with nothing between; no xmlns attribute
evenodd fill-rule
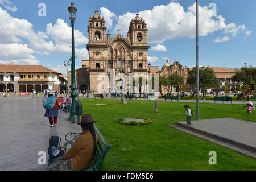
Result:
<svg viewBox="0 0 256 182"><path fill-rule="evenodd" d="M10 65L0 64L0 92L42 92L52 89L60 92L61 73L42 65Z"/></svg>

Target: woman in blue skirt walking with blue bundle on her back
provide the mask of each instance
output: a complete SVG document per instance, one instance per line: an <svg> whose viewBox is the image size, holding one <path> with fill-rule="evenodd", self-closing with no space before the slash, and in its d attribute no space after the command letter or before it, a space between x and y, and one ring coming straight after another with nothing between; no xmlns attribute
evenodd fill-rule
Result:
<svg viewBox="0 0 256 182"><path fill-rule="evenodd" d="M51 127L57 126L57 118L58 118L58 110L59 110L59 103L57 102L57 98L54 96L54 92L48 93L48 102L47 102L47 109L46 113L44 114L44 117L47 117L49 119L49 123ZM54 123L53 123L54 120Z"/></svg>

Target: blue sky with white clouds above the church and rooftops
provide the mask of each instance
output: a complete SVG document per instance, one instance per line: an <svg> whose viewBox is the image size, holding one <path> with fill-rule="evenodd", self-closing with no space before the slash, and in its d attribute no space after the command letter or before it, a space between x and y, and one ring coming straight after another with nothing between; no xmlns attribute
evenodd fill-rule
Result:
<svg viewBox="0 0 256 182"><path fill-rule="evenodd" d="M63 61L71 55L71 22L66 0L0 0L0 63L42 64L65 73ZM89 16L98 10L112 36L121 28L126 37L130 19L139 13L148 24L149 56L160 68L177 59L182 65L196 64L195 0L180 1L84 1L77 7L76 68L88 59ZM46 16L38 16L39 3L46 5ZM216 5L210 6L210 3ZM200 65L241 67L256 63L256 1L199 1ZM215 16L217 15L217 16ZM69 31L70 30L70 31Z"/></svg>

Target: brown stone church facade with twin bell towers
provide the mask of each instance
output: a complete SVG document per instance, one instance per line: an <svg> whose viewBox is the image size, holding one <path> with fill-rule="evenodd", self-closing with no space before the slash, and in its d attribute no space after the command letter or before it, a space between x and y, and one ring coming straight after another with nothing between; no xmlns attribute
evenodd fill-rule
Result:
<svg viewBox="0 0 256 182"><path fill-rule="evenodd" d="M109 31L106 33L104 18L95 11L88 26L89 60L82 61L82 67L89 68L91 91L97 92L101 82L97 78L101 73L108 75L110 80L111 69L115 69L115 75L125 74L127 79L129 73L148 73L147 53L150 47L147 46L147 31L146 22L137 14L130 22L126 38L119 33L111 38Z"/></svg>

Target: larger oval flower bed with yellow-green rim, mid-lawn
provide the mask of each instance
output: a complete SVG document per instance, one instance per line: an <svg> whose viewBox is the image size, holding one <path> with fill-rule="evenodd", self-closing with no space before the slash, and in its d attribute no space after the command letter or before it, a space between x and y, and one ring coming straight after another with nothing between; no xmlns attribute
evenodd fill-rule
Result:
<svg viewBox="0 0 256 182"><path fill-rule="evenodd" d="M119 118L117 123L122 125L135 125L135 126L141 126L141 125L149 125L153 121L149 118L144 117L130 117L130 118Z"/></svg>

